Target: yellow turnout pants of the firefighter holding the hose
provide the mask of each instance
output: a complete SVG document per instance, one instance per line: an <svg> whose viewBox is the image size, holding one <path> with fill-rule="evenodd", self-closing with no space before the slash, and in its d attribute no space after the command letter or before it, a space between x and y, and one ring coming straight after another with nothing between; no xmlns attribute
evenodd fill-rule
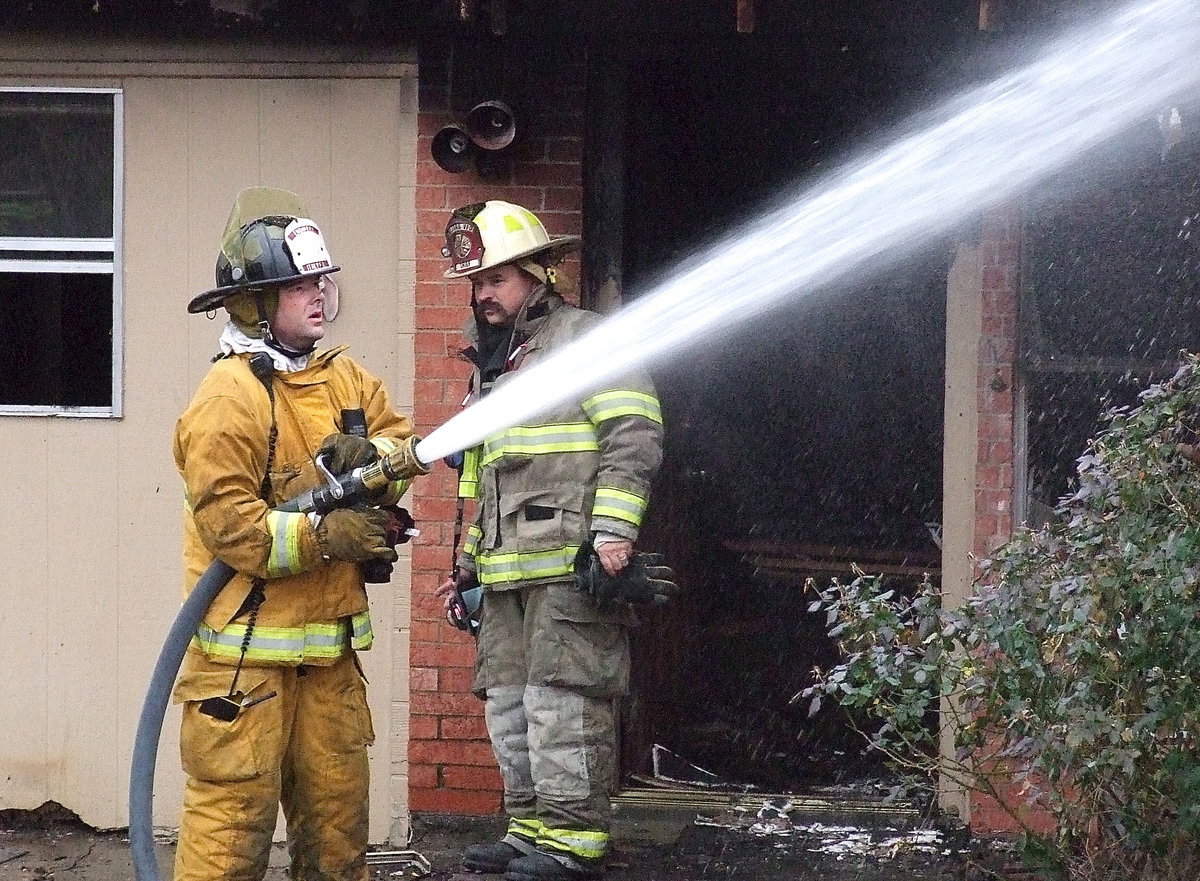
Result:
<svg viewBox="0 0 1200 881"><path fill-rule="evenodd" d="M187 785L175 881L260 881L278 805L292 881L367 881L367 745L374 739L353 652L331 666L247 667L233 721L200 712L234 667L188 652L175 685ZM275 691L274 697L266 697Z"/></svg>

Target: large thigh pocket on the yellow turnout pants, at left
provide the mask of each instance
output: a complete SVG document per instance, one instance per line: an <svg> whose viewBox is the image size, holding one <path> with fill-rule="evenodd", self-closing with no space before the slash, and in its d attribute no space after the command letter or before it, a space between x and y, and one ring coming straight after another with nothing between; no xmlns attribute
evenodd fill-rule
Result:
<svg viewBox="0 0 1200 881"><path fill-rule="evenodd" d="M209 783L251 780L274 771L282 754L281 699L272 697L240 709L232 720L223 720L203 712L205 701L216 701L229 694L233 669L228 671L193 670L182 673L175 683L173 700L184 705L184 720L179 732L180 760L184 773ZM269 671L242 669L235 703L265 696L278 683L271 682Z"/></svg>

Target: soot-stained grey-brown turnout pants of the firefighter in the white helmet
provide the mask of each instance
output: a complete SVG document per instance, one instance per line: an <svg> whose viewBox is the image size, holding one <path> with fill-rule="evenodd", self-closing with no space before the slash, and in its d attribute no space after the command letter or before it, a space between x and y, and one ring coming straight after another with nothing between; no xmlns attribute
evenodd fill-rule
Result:
<svg viewBox="0 0 1200 881"><path fill-rule="evenodd" d="M485 593L474 689L510 834L582 859L605 855L629 623L628 611L600 612L572 583Z"/></svg>

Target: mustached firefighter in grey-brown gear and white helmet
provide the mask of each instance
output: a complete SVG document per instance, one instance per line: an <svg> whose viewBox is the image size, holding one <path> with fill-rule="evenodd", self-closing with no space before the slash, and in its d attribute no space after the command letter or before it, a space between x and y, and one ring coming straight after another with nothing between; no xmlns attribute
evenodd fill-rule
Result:
<svg viewBox="0 0 1200 881"><path fill-rule="evenodd" d="M472 281L475 394L599 323L553 287L553 264L578 239L551 239L526 209L494 200L460 209L446 240L446 276ZM638 374L468 453L461 493L478 504L458 564L485 589L474 689L486 701L510 817L500 841L468 849L468 869L512 881L602 871L613 699L629 685L631 613L598 609L576 589L574 565L592 541L610 575L625 567L661 449L659 401ZM448 581L439 593L452 589Z"/></svg>

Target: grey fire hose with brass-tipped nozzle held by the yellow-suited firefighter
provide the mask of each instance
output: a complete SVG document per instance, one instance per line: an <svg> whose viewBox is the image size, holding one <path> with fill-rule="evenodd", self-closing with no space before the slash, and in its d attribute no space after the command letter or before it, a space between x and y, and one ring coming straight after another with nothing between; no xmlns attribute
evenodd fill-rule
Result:
<svg viewBox="0 0 1200 881"><path fill-rule="evenodd" d="M368 504L388 484L428 473L428 466L416 457L419 440L416 436L406 438L379 461L348 474L334 475L328 484L301 493L280 505L278 510L328 514L337 508ZM234 575L235 570L220 559L214 559L204 570L180 607L150 677L130 766L130 851L137 881L158 881L158 863L154 853L154 774L162 723L175 677L204 613Z"/></svg>

